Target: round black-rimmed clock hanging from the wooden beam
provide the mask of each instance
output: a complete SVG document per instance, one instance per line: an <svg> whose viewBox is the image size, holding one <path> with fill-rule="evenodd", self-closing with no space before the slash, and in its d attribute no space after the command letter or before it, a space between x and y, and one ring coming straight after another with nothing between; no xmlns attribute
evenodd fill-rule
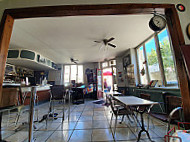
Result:
<svg viewBox="0 0 190 142"><path fill-rule="evenodd" d="M149 27L155 31L161 31L166 27L166 19L161 15L154 15L149 21Z"/></svg>

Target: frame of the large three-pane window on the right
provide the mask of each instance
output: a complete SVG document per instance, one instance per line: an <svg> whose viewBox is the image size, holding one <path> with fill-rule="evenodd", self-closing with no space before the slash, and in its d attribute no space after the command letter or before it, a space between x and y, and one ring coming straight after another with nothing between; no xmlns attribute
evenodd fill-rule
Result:
<svg viewBox="0 0 190 142"><path fill-rule="evenodd" d="M167 28L164 28L160 32L155 32L154 34L152 34L151 36L149 36L146 40L144 40L142 43L140 43L135 48L135 52L136 52L136 64L137 64L137 71L138 71L137 74L138 74L138 83L139 84L141 84L141 74L140 74L139 57L138 57L137 50L143 46L143 55L144 55L145 61L147 61L145 44L153 38L154 42L155 42L155 46L156 46L156 54L157 54L157 58L158 58L158 64L159 64L159 70L160 70L160 74L161 74L162 85L164 87L168 87L168 86L176 86L176 84L177 84L177 87L179 87L179 80L178 80L178 78L176 78L176 83L174 83L174 84L168 84L167 80L166 80L165 71L164 71L164 65L163 65L163 60L162 60L162 55L161 55L161 50L160 50L160 43L159 43L159 38L158 38L158 35L161 32L163 32L164 30L166 30L166 32L168 33ZM169 34L167 34L167 35L168 35L168 39L169 39L170 50L171 50L171 53L172 53L175 73L176 73L176 77L177 77L178 73L177 73L177 70L176 70L176 61L175 61L175 57L174 57L175 55L174 55L174 52L173 52L173 47L172 47L172 44L171 44L171 38L170 38ZM146 71L145 75L146 75L147 81L149 83L151 80L150 80L150 73L149 73L149 69L148 69L148 64L147 63L145 64L145 71ZM143 84L143 85L146 85L146 84Z"/></svg>

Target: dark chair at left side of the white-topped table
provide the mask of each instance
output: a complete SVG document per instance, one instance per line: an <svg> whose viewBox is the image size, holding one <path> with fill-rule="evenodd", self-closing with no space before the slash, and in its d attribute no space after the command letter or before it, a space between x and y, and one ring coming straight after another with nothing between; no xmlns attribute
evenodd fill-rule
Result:
<svg viewBox="0 0 190 142"><path fill-rule="evenodd" d="M122 106L122 105L116 105L115 102L118 102L118 101L114 100L114 98L111 95L108 97L108 100L110 102L110 106L111 106L111 109L112 109L112 115L111 115L111 120L110 120L110 127L112 125L113 115L115 115L115 117L116 117L116 119L115 119L115 125L114 125L114 136L115 136L115 130L116 130L116 124L117 124L117 118L118 118L118 116L122 116L122 120L120 122L120 123L122 123L125 115L128 117L129 120L130 120L129 115L133 116L134 119L135 119L135 115L134 115L133 111L130 110L129 107Z"/></svg>

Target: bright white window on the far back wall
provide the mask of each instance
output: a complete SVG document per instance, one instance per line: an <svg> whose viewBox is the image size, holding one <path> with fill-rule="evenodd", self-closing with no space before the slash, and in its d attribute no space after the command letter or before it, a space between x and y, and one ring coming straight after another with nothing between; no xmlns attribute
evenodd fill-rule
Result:
<svg viewBox="0 0 190 142"><path fill-rule="evenodd" d="M66 65L64 67L64 83L68 84L71 80L76 83L83 83L83 65Z"/></svg>

